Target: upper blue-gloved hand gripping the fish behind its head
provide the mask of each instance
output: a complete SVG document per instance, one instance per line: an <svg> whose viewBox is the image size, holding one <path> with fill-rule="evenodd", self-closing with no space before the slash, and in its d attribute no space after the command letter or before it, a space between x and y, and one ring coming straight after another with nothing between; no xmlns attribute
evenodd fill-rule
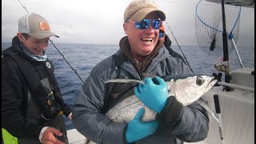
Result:
<svg viewBox="0 0 256 144"><path fill-rule="evenodd" d="M140 83L138 87L134 87L134 94L144 105L160 113L163 107L166 106L168 89L162 78L156 77L155 80L158 84L155 84L152 78L145 78L146 84Z"/></svg>

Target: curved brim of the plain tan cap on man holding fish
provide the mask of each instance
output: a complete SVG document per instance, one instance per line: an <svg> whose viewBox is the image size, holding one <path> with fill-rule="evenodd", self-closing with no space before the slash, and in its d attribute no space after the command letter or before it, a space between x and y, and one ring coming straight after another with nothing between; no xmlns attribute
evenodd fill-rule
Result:
<svg viewBox="0 0 256 144"><path fill-rule="evenodd" d="M138 10L131 18L134 21L142 21L146 17L147 14L150 14L151 12L156 11L158 12L158 17L162 20L166 20L166 14L162 12L161 10L155 9L155 8L144 8L142 10Z"/></svg>

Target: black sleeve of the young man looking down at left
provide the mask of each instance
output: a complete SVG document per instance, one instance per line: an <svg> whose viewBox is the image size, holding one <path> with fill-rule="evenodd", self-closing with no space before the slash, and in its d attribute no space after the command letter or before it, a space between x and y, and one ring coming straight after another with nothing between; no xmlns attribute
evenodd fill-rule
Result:
<svg viewBox="0 0 256 144"><path fill-rule="evenodd" d="M2 58L2 127L18 138L36 138L43 126L27 122L27 89L18 65L8 56Z"/></svg>

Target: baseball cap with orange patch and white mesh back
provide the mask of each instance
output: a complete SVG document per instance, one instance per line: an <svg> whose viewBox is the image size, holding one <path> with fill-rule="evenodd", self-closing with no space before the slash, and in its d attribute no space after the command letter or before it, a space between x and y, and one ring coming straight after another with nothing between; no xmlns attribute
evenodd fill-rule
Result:
<svg viewBox="0 0 256 144"><path fill-rule="evenodd" d="M48 38L58 35L50 31L50 25L46 18L34 13L26 14L18 20L18 32L29 34L30 37L36 39Z"/></svg>

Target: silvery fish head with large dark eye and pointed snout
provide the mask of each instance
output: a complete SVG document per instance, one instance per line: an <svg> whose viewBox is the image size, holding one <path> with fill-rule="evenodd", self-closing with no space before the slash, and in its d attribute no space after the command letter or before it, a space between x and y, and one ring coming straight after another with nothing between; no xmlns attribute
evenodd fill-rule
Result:
<svg viewBox="0 0 256 144"><path fill-rule="evenodd" d="M206 75L195 75L187 78L172 79L167 83L168 90L179 102L184 106L190 105L192 102L202 97L208 90L210 90L218 80L214 77Z"/></svg>

